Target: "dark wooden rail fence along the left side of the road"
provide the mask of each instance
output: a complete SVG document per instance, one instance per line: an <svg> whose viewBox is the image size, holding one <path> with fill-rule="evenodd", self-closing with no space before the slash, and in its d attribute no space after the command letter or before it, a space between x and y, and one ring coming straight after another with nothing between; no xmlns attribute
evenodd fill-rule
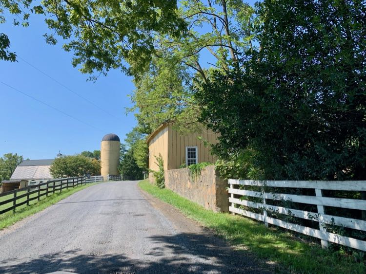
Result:
<svg viewBox="0 0 366 274"><path fill-rule="evenodd" d="M29 205L30 201L33 201L36 199L38 201L40 201L40 198L42 196L48 197L48 196L54 194L55 192L62 192L62 190L69 189L71 187L79 186L82 184L86 184L85 176L51 180L46 183L29 185L29 186L22 187L19 189L0 193L0 200L1 200L1 197L12 196L12 198L9 198L4 201L0 201L0 206L7 204L7 203L11 204L11 206L0 210L0 215L5 212L8 212L10 210L13 210L13 212L15 212L15 209L17 207L24 205L24 204ZM25 193L17 195L19 192L25 192ZM37 194L37 195L30 197L32 194ZM20 199L25 198L25 197L26 197L26 200L17 203L17 201L19 201Z"/></svg>

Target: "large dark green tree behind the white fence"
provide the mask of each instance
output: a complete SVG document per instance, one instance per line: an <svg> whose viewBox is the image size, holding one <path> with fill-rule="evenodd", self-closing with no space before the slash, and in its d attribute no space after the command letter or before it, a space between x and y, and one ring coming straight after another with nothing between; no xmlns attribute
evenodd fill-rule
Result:
<svg viewBox="0 0 366 274"><path fill-rule="evenodd" d="M260 49L197 96L202 120L221 132L216 153L251 155L253 179L365 180L364 1L257 7Z"/></svg>

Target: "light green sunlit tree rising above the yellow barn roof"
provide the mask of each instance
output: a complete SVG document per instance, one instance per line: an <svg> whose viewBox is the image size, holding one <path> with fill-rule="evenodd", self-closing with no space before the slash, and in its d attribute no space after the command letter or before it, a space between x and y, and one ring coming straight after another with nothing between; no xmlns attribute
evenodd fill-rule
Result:
<svg viewBox="0 0 366 274"><path fill-rule="evenodd" d="M194 80L207 81L214 70L228 71L252 47L253 8L242 0L181 0L183 36L157 35L154 56L135 78L132 94L137 121L150 134L170 122L181 132L196 131L199 108ZM212 57L206 69L200 55Z"/></svg>

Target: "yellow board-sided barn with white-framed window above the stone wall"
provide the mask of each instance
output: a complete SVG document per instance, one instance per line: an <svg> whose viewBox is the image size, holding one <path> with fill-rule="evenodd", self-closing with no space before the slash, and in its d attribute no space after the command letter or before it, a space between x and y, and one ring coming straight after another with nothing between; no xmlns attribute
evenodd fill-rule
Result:
<svg viewBox="0 0 366 274"><path fill-rule="evenodd" d="M216 157L211 155L211 149L204 145L204 141L216 144L218 136L219 134L203 126L199 133L182 135L171 124L163 124L146 141L149 147L149 169L158 170L155 156L158 157L159 153L163 157L164 170L177 169L182 164L214 163Z"/></svg>

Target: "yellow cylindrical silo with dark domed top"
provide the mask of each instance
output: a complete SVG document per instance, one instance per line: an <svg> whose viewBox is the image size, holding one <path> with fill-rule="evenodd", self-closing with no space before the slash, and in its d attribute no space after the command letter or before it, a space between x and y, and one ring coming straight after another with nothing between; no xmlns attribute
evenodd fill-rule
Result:
<svg viewBox="0 0 366 274"><path fill-rule="evenodd" d="M113 133L103 137L101 143L101 173L102 176L119 175L120 138Z"/></svg>

